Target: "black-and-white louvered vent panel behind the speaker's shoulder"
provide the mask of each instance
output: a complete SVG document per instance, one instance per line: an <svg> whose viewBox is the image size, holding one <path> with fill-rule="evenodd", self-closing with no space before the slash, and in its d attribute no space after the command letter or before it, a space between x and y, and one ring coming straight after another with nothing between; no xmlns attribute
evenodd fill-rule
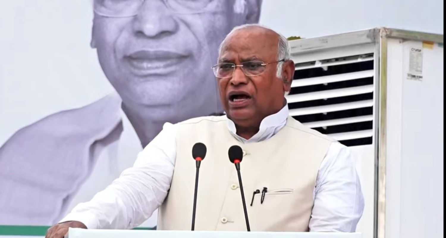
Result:
<svg viewBox="0 0 446 238"><path fill-rule="evenodd" d="M296 64L289 113L346 146L372 144L373 54Z"/></svg>

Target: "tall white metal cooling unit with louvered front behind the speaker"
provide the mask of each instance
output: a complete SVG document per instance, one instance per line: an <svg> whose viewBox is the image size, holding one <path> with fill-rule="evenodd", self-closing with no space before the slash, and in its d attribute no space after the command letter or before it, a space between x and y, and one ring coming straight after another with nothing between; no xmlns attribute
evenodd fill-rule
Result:
<svg viewBox="0 0 446 238"><path fill-rule="evenodd" d="M443 35L375 28L289 44L290 114L356 155L357 231L443 237Z"/></svg>

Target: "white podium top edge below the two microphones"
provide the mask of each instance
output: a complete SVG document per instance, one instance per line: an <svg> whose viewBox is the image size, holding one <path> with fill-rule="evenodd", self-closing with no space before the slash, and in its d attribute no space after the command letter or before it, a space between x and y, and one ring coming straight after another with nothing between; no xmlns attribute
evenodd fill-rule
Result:
<svg viewBox="0 0 446 238"><path fill-rule="evenodd" d="M361 238L361 233L240 232L176 230L87 230L70 228L65 238Z"/></svg>

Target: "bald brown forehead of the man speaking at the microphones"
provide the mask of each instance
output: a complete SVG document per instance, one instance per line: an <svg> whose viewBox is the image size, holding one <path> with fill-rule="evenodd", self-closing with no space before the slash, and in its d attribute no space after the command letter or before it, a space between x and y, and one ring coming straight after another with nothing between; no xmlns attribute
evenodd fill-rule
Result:
<svg viewBox="0 0 446 238"><path fill-rule="evenodd" d="M277 58L278 35L268 29L240 29L223 43L219 61L258 59L273 61Z"/></svg>

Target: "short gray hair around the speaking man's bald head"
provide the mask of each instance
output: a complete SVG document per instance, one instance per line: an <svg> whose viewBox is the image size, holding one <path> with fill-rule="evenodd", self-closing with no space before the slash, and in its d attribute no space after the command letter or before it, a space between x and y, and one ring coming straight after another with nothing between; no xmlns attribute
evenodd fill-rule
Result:
<svg viewBox="0 0 446 238"><path fill-rule="evenodd" d="M226 43L227 39L236 31L240 30L240 29L246 29L246 28L250 28L250 27L260 27L260 28L264 28L264 29L268 29L268 30L272 30L274 33L276 33L279 36L279 43L277 46L277 61L279 60L289 60L290 56L290 48L289 48L289 44L288 44L288 40L281 35L280 33L277 33L275 30L268 28L266 26L260 25L260 24L245 24L245 25L240 25L240 26L236 26L234 27L231 32L229 34L227 34L227 36L224 38L223 42L220 44L219 46L219 55L221 54L223 45ZM282 67L283 67L284 62L279 62L277 63L277 70L276 70L276 76L277 78L282 78Z"/></svg>

